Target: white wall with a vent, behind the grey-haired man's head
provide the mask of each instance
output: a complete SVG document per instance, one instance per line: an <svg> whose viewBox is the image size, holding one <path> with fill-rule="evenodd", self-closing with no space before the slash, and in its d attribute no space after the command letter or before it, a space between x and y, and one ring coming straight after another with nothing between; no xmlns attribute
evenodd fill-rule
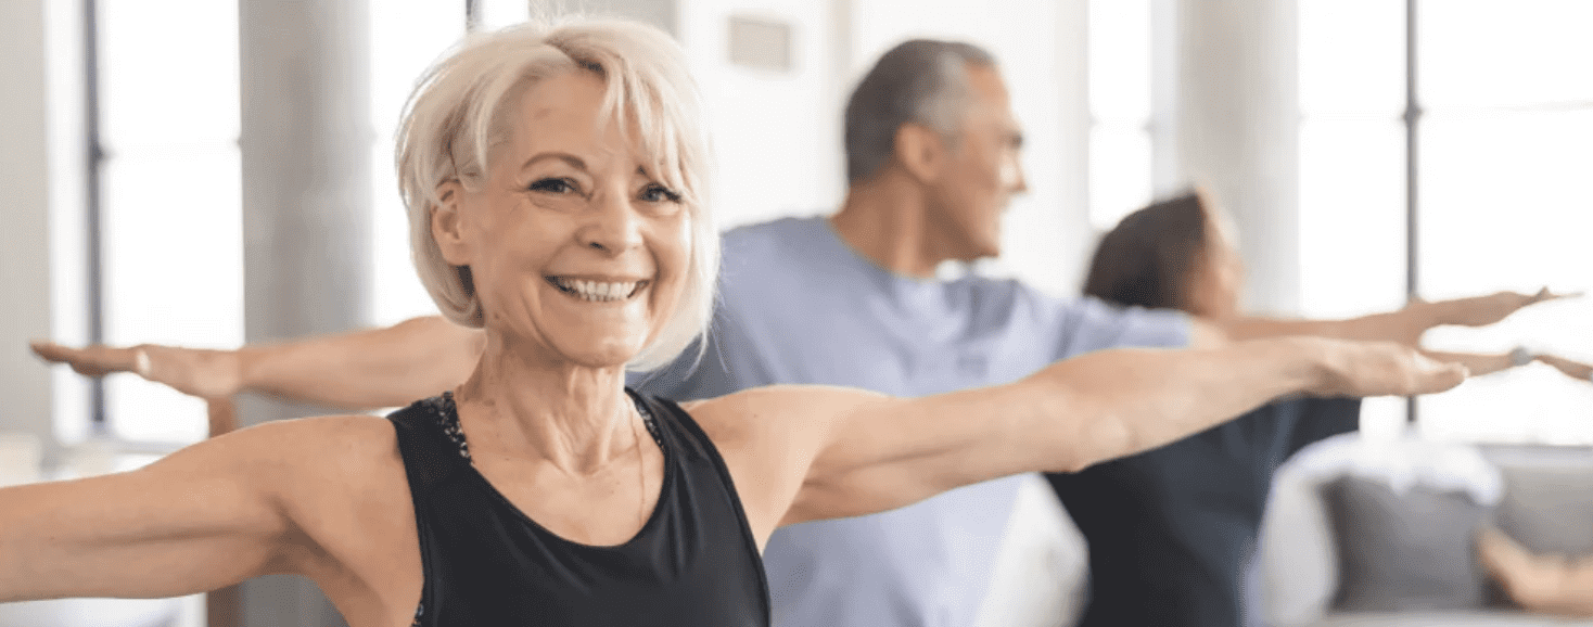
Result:
<svg viewBox="0 0 1593 627"><path fill-rule="evenodd" d="M910 37L967 40L1002 64L1026 130L1031 193L1004 223L1008 272L1055 293L1077 290L1094 234L1085 212L1083 0L999 0L980 10L937 0L693 0L680 40L710 107L723 226L832 213L846 189L841 113L868 65ZM795 29L795 70L726 60L730 16Z"/></svg>

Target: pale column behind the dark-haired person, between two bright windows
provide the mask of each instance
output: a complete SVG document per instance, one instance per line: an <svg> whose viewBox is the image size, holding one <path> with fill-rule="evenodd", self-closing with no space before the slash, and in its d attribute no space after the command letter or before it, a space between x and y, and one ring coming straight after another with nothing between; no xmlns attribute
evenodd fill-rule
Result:
<svg viewBox="0 0 1593 627"><path fill-rule="evenodd" d="M1300 304L1295 0L1177 0L1176 175L1239 223L1246 306Z"/></svg>

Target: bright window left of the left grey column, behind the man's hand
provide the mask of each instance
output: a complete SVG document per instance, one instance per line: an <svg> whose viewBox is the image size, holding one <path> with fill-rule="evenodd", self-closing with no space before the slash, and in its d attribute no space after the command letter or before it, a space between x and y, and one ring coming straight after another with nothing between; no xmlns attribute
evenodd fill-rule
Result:
<svg viewBox="0 0 1593 627"><path fill-rule="evenodd" d="M91 228L99 224L94 339L233 347L244 339L237 5L96 0L89 135ZM172 14L183 16L182 37ZM91 186L96 186L91 183ZM97 202L94 202L97 201ZM97 275L97 277L96 277ZM91 298L91 307L92 307ZM191 442L204 403L134 377L108 377L107 434Z"/></svg>

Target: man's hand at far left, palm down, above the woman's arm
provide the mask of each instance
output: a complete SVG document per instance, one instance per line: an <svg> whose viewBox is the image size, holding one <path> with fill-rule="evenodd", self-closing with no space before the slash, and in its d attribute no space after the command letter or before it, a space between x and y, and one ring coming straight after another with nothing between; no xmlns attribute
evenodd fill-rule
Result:
<svg viewBox="0 0 1593 627"><path fill-rule="evenodd" d="M134 372L177 391L205 399L223 399L237 393L242 380L239 355L234 350L180 349L140 344L131 349L89 345L68 349L37 341L33 353L51 363L65 363L81 376L104 377Z"/></svg>

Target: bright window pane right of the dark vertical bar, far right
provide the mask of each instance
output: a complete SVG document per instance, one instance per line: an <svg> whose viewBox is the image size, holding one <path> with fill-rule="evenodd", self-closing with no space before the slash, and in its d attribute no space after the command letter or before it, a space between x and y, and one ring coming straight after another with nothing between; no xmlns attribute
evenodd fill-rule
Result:
<svg viewBox="0 0 1593 627"><path fill-rule="evenodd" d="M1415 11L1416 285L1423 296L1593 288L1593 3L1419 2ZM1525 310L1431 344L1525 344L1593 358L1593 301ZM1545 366L1418 403L1445 438L1593 444L1593 387Z"/></svg>

